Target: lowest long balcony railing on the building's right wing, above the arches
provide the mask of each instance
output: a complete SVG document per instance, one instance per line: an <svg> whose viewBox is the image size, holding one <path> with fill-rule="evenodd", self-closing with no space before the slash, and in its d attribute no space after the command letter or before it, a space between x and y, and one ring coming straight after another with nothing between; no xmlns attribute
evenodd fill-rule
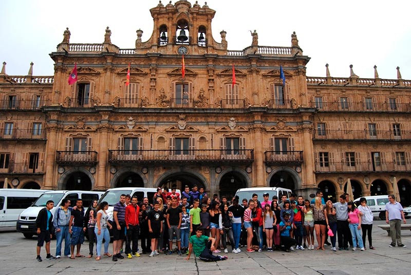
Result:
<svg viewBox="0 0 411 275"><path fill-rule="evenodd" d="M316 173L409 172L411 163L398 162L315 162Z"/></svg>

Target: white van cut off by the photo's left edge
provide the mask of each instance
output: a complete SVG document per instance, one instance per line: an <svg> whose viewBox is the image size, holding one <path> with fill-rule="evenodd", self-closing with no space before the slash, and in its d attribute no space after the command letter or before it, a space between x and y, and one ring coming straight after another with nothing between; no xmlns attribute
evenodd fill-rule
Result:
<svg viewBox="0 0 411 275"><path fill-rule="evenodd" d="M15 230L18 215L47 190L0 189L0 231Z"/></svg>

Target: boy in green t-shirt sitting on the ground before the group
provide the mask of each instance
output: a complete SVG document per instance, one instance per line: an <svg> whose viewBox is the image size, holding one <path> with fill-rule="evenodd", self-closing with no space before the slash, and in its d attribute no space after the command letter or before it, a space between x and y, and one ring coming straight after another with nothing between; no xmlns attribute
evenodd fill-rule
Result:
<svg viewBox="0 0 411 275"><path fill-rule="evenodd" d="M194 249L194 255L200 260L204 261L224 261L227 260L227 256L215 256L211 251L215 250L215 239L202 235L202 227L198 226L196 234L190 237L189 254L185 260L190 260L191 253Z"/></svg>

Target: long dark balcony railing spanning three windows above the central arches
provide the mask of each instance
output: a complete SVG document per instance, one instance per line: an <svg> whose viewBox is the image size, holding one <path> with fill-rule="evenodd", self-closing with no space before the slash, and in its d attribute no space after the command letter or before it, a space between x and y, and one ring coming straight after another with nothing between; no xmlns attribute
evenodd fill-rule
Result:
<svg viewBox="0 0 411 275"><path fill-rule="evenodd" d="M254 150L108 150L111 163L250 163Z"/></svg>

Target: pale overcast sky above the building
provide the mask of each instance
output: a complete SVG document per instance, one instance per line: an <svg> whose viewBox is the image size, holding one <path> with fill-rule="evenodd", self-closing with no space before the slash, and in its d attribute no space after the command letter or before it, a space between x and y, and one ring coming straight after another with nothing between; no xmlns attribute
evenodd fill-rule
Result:
<svg viewBox="0 0 411 275"><path fill-rule="evenodd" d="M48 54L56 50L66 27L71 43L102 43L109 26L113 44L134 48L137 29L144 31L143 42L150 38L149 10L157 4L158 0L2 0L0 62L7 62L8 75L26 75L30 62L33 75L53 75ZM295 31L303 53L311 58L307 76L325 77L328 63L332 77L349 77L352 64L361 78L373 78L377 65L380 78L396 79L399 66L402 78L411 79L409 0L208 0L207 4L216 11L214 39L220 42L219 32L227 31L230 50L250 46L250 30L257 30L260 46L291 46Z"/></svg>

